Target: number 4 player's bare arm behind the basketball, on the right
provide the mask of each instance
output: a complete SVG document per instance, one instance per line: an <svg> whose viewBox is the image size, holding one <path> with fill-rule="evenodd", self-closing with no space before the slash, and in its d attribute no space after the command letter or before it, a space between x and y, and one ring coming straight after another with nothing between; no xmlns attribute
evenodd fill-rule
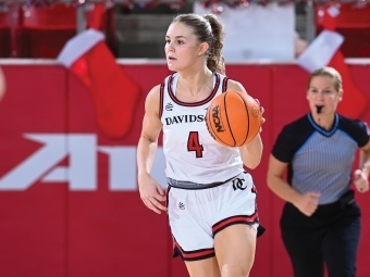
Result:
<svg viewBox="0 0 370 277"><path fill-rule="evenodd" d="M247 93L243 85L235 80L227 81L227 90L243 91ZM263 113L263 108L261 108L261 113ZM262 118L262 123L263 122L264 118ZM239 151L244 165L251 169L256 168L261 162L263 152L263 143L260 134L258 134L249 143L239 147Z"/></svg>

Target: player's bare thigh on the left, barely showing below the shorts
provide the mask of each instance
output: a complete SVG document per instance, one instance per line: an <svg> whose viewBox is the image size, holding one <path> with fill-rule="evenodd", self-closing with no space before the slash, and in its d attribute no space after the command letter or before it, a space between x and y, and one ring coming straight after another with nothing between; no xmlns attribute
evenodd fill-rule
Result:
<svg viewBox="0 0 370 277"><path fill-rule="evenodd" d="M190 277L221 277L215 256L185 262Z"/></svg>

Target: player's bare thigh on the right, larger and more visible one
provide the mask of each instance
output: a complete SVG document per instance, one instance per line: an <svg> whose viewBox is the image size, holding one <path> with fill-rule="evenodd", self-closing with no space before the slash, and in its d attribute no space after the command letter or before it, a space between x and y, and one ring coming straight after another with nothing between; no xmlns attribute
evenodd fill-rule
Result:
<svg viewBox="0 0 370 277"><path fill-rule="evenodd" d="M257 230L235 224L218 232L214 251L221 276L248 276L255 261Z"/></svg>

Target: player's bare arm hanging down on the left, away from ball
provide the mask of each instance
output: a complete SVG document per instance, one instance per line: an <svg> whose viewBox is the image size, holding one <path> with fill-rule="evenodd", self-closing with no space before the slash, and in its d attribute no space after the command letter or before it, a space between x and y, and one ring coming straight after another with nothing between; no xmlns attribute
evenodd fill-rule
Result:
<svg viewBox="0 0 370 277"><path fill-rule="evenodd" d="M143 128L137 146L137 180L140 198L148 209L158 214L161 211L166 211L166 207L161 203L165 200L164 191L158 181L150 176L158 147L158 137L162 128L159 106L160 86L156 86L149 91L145 101Z"/></svg>

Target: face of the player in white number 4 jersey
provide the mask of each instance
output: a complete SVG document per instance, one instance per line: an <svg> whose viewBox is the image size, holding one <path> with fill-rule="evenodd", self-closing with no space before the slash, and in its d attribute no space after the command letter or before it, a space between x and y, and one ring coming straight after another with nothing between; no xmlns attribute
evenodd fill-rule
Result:
<svg viewBox="0 0 370 277"><path fill-rule="evenodd" d="M172 23L164 46L169 70L180 72L194 65L201 54L201 45L190 27L178 22Z"/></svg>

